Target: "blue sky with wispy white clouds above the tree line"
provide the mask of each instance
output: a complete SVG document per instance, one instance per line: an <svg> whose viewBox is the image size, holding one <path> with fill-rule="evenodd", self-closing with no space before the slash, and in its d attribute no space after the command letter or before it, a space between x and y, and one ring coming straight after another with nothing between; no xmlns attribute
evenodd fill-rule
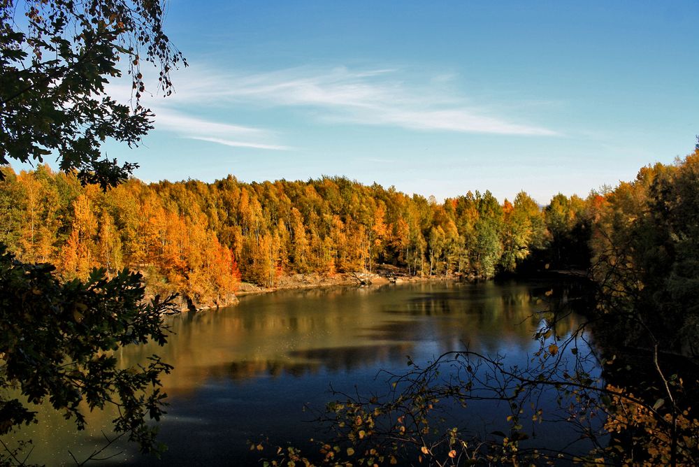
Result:
<svg viewBox="0 0 699 467"><path fill-rule="evenodd" d="M693 149L698 24L697 1L172 0L190 66L106 152L147 181L585 196Z"/></svg>

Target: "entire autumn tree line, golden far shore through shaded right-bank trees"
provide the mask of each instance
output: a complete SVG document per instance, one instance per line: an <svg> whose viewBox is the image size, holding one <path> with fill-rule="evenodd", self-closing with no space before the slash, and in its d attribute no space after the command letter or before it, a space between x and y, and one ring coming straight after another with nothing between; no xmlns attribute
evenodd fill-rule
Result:
<svg viewBox="0 0 699 467"><path fill-rule="evenodd" d="M696 186L688 180L696 159L695 151L644 167L636 180L585 199L557 194L544 207L525 192L512 202L468 192L438 203L342 177L131 178L103 191L46 165L20 173L4 167L0 243L20 261L55 264L66 279L129 267L144 273L153 292L200 303L225 304L239 280L274 287L282 275L392 264L410 275L463 278L590 268L603 287L623 289L609 296L672 308L690 293L686 276L697 268ZM661 286L675 291L663 303L643 298L642 290Z"/></svg>

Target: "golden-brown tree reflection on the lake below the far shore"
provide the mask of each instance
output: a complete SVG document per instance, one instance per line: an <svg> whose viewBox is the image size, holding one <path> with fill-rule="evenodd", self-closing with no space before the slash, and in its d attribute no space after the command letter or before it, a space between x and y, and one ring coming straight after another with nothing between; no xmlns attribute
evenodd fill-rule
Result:
<svg viewBox="0 0 699 467"><path fill-rule="evenodd" d="M240 306L171 319L173 336L122 352L125 365L159 353L177 371L168 394L196 390L208 378L302 376L324 371L403 366L419 357L468 345L479 352L531 346L541 320L536 287L518 284L420 284L314 289L246 296ZM575 317L558 323L565 334Z"/></svg>

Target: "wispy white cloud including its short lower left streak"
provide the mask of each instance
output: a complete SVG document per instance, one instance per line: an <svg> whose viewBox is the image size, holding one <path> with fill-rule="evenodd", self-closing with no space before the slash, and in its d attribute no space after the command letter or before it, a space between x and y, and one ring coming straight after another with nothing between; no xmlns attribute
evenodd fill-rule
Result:
<svg viewBox="0 0 699 467"><path fill-rule="evenodd" d="M401 69L355 70L342 66L224 73L194 64L178 71L174 94L167 99L144 96L143 104L154 111L159 131L257 150L293 148L280 143L280 135L270 129L238 124L236 120L240 121L251 108L293 108L302 117L330 124L480 134L557 134L552 129L497 115L495 106L473 106L463 92L454 89L458 80L452 73L425 75L422 81L408 80L410 74ZM131 96L130 87L111 87L111 94L122 100Z"/></svg>

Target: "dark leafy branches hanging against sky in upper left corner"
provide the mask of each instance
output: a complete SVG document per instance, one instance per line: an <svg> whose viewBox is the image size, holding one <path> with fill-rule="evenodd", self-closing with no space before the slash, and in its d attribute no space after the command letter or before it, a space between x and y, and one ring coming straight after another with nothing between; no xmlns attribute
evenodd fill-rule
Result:
<svg viewBox="0 0 699 467"><path fill-rule="evenodd" d="M152 128L139 103L142 61L159 66L164 94L173 67L186 65L164 34L163 14L164 3L150 0L0 0L0 164L56 154L83 183L127 178L136 164L101 157L100 145L107 138L136 145ZM123 72L130 105L105 89Z"/></svg>

